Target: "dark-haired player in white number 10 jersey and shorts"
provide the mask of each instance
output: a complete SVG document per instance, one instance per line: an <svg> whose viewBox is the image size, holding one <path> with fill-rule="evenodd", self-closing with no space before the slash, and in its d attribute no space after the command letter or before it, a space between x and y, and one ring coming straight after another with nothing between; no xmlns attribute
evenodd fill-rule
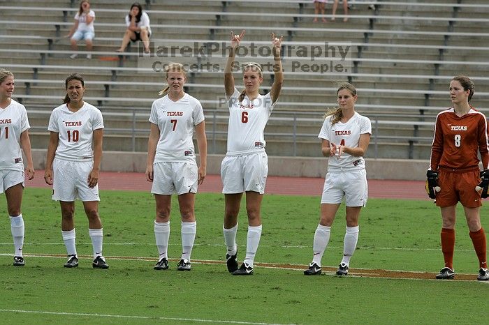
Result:
<svg viewBox="0 0 489 325"><path fill-rule="evenodd" d="M102 160L103 119L98 108L83 100L85 82L73 73L65 80L64 104L53 109L44 180L52 185L52 199L61 205L61 234L68 261L78 266L75 245L75 199L81 199L88 217L96 269L108 269L102 255L103 229L98 216L98 171Z"/></svg>

